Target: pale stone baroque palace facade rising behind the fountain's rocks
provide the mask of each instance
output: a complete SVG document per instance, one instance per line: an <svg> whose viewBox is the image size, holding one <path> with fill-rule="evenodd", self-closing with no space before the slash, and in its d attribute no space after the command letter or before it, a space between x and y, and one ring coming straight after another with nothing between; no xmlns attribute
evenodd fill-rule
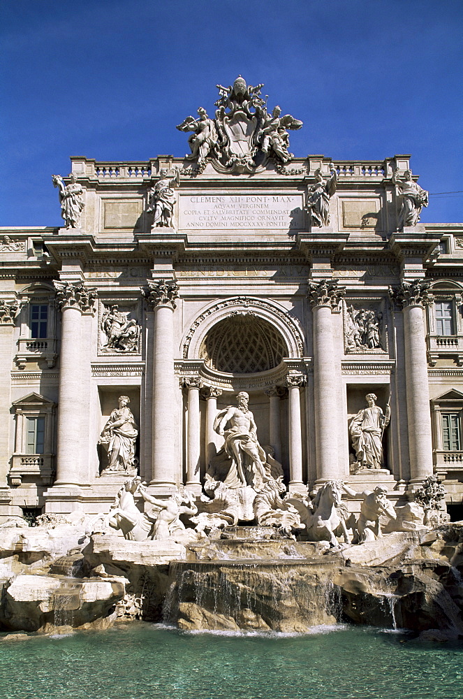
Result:
<svg viewBox="0 0 463 699"><path fill-rule="evenodd" d="M136 473L199 496L224 443L245 487L237 394L254 477L404 502L434 473L458 507L463 224L419 222L409 155L293 157L302 122L218 87L186 157L72 157L64 226L1 229L0 514L108 512Z"/></svg>

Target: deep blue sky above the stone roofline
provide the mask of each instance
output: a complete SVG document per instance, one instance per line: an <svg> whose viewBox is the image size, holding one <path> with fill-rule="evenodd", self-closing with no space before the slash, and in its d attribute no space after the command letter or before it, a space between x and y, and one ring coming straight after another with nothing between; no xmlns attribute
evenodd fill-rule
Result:
<svg viewBox="0 0 463 699"><path fill-rule="evenodd" d="M304 121L297 157L411 153L429 192L463 190L462 0L0 0L0 225L61 225L70 155L182 156L175 129L216 83L265 83ZM424 222L463 221L463 195Z"/></svg>

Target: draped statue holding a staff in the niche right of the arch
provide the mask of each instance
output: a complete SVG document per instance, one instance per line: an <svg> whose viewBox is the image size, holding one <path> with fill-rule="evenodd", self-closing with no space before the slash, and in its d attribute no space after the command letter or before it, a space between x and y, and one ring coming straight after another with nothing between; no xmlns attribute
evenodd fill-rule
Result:
<svg viewBox="0 0 463 699"><path fill-rule="evenodd" d="M375 394L365 396L368 407L359 410L349 425L355 456L363 468L382 468L383 433L390 421L390 406L385 415L376 405Z"/></svg>

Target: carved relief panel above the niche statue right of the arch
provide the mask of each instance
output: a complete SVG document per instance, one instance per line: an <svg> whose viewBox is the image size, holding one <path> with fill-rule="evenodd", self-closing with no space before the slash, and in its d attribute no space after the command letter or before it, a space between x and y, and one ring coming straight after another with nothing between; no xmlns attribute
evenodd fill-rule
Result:
<svg viewBox="0 0 463 699"><path fill-rule="evenodd" d="M388 352L385 301L345 299L342 303L345 354Z"/></svg>

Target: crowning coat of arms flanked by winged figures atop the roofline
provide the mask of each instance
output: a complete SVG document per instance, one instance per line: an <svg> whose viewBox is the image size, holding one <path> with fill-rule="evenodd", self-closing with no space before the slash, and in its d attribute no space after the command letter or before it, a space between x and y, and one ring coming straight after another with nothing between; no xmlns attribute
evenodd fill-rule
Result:
<svg viewBox="0 0 463 699"><path fill-rule="evenodd" d="M300 129L302 122L291 114L282 117L278 106L271 115L267 113L266 99L260 96L263 84L252 87L239 75L233 85L217 88L215 119L200 107L198 119L189 116L177 126L179 131L193 131L187 159L202 168L205 159L212 157L214 167L224 172L254 172L265 157L272 157L277 165L293 159L287 129Z"/></svg>

